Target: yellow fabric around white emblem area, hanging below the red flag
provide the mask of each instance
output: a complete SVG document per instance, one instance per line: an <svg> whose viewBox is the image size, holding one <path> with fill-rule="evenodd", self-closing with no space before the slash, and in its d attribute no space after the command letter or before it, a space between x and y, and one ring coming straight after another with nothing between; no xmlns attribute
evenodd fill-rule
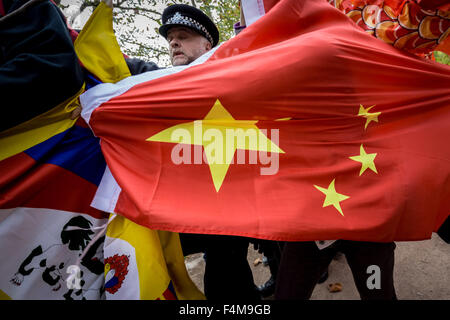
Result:
<svg viewBox="0 0 450 320"><path fill-rule="evenodd" d="M139 288L141 300L163 300L170 280L179 299L204 299L187 273L178 234L159 234L117 215L108 225L106 236L105 255L113 256L121 246L120 242L113 244L114 239L126 241L134 248L139 285L130 287ZM118 298L126 295L117 294Z"/></svg>

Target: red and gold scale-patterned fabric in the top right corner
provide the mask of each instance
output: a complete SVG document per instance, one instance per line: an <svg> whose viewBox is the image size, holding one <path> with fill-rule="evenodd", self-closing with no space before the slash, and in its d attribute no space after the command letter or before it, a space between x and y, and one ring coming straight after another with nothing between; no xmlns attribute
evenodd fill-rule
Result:
<svg viewBox="0 0 450 320"><path fill-rule="evenodd" d="M450 6L444 1L329 0L368 34L417 55L444 50ZM448 53L448 52L447 52Z"/></svg>

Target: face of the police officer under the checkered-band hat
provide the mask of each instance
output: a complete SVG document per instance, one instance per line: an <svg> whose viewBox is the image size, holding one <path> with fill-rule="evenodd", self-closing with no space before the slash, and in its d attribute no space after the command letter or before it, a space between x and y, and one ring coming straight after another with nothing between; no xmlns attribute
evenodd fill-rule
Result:
<svg viewBox="0 0 450 320"><path fill-rule="evenodd" d="M167 32L170 60L173 66L186 65L211 49L211 43L197 32L173 27Z"/></svg>

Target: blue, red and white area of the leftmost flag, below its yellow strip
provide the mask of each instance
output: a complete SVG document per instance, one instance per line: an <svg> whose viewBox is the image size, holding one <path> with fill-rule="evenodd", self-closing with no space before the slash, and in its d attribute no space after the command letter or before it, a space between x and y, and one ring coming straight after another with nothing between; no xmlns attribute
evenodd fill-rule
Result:
<svg viewBox="0 0 450 320"><path fill-rule="evenodd" d="M89 203L105 166L98 139L81 120L0 162L0 290L4 296L102 297L105 237L100 233L108 215Z"/></svg>

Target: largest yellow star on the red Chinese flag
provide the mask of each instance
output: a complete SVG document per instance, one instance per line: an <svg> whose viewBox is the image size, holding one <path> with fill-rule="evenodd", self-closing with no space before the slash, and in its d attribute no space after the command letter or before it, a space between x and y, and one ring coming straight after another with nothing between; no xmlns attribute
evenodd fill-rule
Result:
<svg viewBox="0 0 450 320"><path fill-rule="evenodd" d="M255 125L257 122L234 119L217 99L203 120L170 127L147 141L203 146L214 187L219 192L237 149L284 153L267 139Z"/></svg>

